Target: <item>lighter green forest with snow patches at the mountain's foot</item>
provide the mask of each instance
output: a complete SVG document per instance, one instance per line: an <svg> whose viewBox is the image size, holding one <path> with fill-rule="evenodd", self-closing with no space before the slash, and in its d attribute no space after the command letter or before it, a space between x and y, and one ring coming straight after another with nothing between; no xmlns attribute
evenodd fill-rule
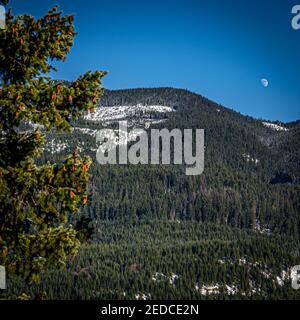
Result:
<svg viewBox="0 0 300 320"><path fill-rule="evenodd" d="M39 283L27 286L14 279L9 294L23 299L300 298L290 279L277 278L299 263L299 240L289 237L195 221L103 221L93 242L66 268L44 273ZM204 286L218 291L203 292Z"/></svg>

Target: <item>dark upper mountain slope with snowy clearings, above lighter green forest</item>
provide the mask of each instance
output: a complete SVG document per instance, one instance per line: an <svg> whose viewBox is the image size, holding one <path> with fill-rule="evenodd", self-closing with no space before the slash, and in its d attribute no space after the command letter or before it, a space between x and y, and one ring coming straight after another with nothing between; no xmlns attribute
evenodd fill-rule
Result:
<svg viewBox="0 0 300 320"><path fill-rule="evenodd" d="M72 134L48 134L44 159L76 147L95 159L97 130L117 128L120 120L128 120L129 130L204 129L204 173L94 161L85 212L93 220L178 218L299 234L299 122L257 120L181 89L106 90Z"/></svg>

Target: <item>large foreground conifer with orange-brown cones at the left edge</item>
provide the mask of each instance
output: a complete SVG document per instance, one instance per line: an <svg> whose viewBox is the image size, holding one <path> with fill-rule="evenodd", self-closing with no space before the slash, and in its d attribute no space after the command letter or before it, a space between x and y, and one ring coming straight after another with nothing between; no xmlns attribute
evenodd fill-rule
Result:
<svg viewBox="0 0 300 320"><path fill-rule="evenodd" d="M73 45L73 19L58 7L37 20L8 11L0 30L0 265L29 282L76 254L68 217L87 203L89 158L74 152L62 163L36 163L42 130L71 130L71 120L93 112L102 93L102 71L71 85L47 77L51 61L64 61ZM36 129L21 131L29 122Z"/></svg>

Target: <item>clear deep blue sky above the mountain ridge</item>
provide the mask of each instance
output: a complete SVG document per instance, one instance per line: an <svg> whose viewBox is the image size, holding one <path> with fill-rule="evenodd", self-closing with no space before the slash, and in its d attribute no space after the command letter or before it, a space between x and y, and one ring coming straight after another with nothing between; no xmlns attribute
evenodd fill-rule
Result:
<svg viewBox="0 0 300 320"><path fill-rule="evenodd" d="M55 78L106 70L109 89L172 86L257 118L300 119L300 0L11 0L36 17L57 3L79 34Z"/></svg>

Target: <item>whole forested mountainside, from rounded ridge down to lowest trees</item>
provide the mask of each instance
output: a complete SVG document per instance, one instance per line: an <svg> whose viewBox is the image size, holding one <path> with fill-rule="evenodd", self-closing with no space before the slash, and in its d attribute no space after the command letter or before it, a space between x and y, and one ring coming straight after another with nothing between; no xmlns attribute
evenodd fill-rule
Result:
<svg viewBox="0 0 300 320"><path fill-rule="evenodd" d="M96 133L120 120L129 130L204 129L204 172L100 165ZM151 88L105 90L95 112L72 124L72 133L46 133L39 161L75 148L94 159L89 205L69 221L92 235L66 270L29 287L9 280L11 296L300 298L291 287L300 257L299 121L258 120L187 90Z"/></svg>

